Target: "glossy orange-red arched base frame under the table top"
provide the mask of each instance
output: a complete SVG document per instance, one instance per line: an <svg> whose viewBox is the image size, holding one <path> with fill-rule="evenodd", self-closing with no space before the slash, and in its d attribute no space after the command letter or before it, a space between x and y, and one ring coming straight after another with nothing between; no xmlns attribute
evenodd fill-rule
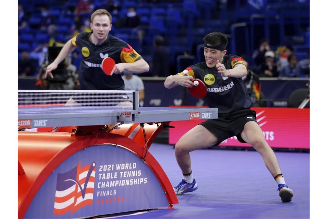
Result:
<svg viewBox="0 0 328 219"><path fill-rule="evenodd" d="M165 125L165 123L144 124L147 149ZM71 126L60 127L55 132L19 131L18 217L24 217L33 197L51 172L78 150L95 144L111 143L123 145L143 158L146 144L141 125L122 124L119 127L119 129L106 129L103 126ZM178 200L164 170L149 152L144 161L165 191L171 208L172 204L178 203Z"/></svg>

